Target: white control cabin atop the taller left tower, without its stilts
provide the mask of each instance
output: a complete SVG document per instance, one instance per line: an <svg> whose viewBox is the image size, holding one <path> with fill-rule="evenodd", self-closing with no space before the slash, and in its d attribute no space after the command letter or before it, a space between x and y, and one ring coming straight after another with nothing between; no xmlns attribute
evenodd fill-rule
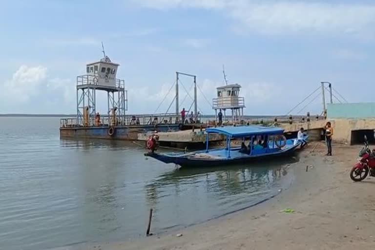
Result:
<svg viewBox="0 0 375 250"><path fill-rule="evenodd" d="M116 74L119 64L111 62L106 56L100 62L86 65L89 84L116 87Z"/></svg>

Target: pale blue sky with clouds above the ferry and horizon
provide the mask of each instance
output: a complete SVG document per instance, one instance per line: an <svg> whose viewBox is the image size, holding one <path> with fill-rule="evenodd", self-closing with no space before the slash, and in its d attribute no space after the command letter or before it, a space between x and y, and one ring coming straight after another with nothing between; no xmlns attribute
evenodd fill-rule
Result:
<svg viewBox="0 0 375 250"><path fill-rule="evenodd" d="M1 0L1 10L0 113L76 113L76 77L103 57L101 42L131 114L174 112L176 71L197 76L198 107L213 114L223 64L247 115L285 115L322 81L348 102L374 101L371 0ZM181 78L181 108L191 84ZM319 93L292 113L320 113ZM106 104L98 93L97 110Z"/></svg>

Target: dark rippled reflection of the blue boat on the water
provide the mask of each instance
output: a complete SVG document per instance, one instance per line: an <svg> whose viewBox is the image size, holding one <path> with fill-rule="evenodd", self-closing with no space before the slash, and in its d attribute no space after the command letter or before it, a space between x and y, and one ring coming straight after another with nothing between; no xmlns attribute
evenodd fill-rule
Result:
<svg viewBox="0 0 375 250"><path fill-rule="evenodd" d="M265 193L269 191L268 187L288 174L286 166L297 161L298 158L293 157L254 162L248 166L174 169L145 186L146 201L150 207L156 207L166 196L180 199L181 195L191 195L202 188L220 199L244 193ZM174 190L173 194L171 190Z"/></svg>

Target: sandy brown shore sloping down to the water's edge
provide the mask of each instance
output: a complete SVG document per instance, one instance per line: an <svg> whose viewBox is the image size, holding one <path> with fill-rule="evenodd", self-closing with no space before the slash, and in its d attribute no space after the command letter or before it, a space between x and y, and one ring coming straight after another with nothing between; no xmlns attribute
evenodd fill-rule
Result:
<svg viewBox="0 0 375 250"><path fill-rule="evenodd" d="M360 146L322 143L292 165L292 187L261 205L165 235L100 244L92 250L308 250L375 248L375 180L354 183L349 171ZM306 166L308 168L306 172ZM281 210L292 208L285 213ZM182 234L176 237L176 234Z"/></svg>

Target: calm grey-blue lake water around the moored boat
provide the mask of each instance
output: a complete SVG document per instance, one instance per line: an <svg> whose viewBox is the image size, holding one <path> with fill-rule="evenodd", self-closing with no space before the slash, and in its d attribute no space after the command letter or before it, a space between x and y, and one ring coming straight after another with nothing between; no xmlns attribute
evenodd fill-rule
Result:
<svg viewBox="0 0 375 250"><path fill-rule="evenodd" d="M247 208L292 180L286 159L178 170L131 142L61 140L59 125L0 117L0 249L144 237L149 208L162 233Z"/></svg>

